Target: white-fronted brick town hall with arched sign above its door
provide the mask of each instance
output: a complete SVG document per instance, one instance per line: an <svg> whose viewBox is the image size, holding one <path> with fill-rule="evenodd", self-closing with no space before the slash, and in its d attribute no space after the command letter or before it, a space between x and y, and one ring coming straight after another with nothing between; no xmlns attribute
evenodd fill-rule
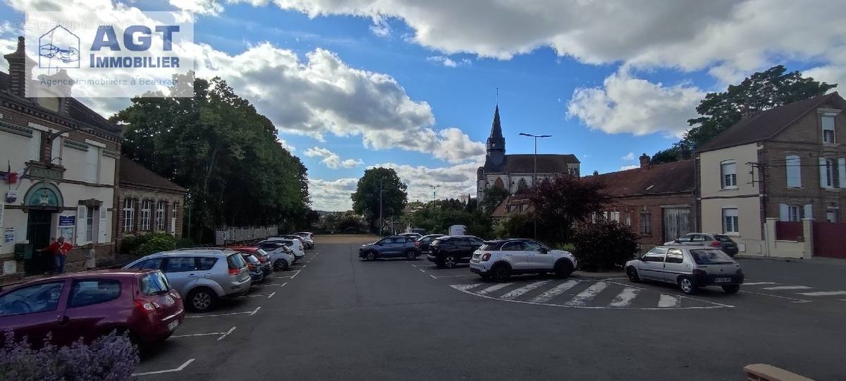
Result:
<svg viewBox="0 0 846 381"><path fill-rule="evenodd" d="M3 57L0 282L50 271L52 257L34 250L59 236L74 245L67 271L83 267L90 247L98 259L113 257L121 129L74 98L25 97L33 62L23 37Z"/></svg>

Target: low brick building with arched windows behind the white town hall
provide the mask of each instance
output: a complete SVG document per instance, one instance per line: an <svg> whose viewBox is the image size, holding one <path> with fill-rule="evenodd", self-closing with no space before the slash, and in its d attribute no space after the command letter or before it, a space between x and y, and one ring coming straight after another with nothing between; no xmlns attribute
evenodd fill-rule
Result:
<svg viewBox="0 0 846 381"><path fill-rule="evenodd" d="M166 232L182 236L185 189L135 163L120 158L119 218L115 237Z"/></svg>

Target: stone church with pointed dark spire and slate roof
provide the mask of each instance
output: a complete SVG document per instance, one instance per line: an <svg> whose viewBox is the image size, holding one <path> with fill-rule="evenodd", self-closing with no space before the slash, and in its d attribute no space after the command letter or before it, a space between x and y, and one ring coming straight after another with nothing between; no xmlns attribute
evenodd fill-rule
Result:
<svg viewBox="0 0 846 381"><path fill-rule="evenodd" d="M532 186L534 154L505 154L503 127L499 123L499 105L493 113L491 136L487 138L485 166L476 171L476 197L485 197L485 190L497 186L514 195ZM570 174L579 176L579 159L573 154L538 154L537 181Z"/></svg>

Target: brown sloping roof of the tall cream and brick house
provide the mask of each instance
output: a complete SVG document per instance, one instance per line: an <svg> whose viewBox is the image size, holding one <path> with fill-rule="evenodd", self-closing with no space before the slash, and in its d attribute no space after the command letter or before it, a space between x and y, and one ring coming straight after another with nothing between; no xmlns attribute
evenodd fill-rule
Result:
<svg viewBox="0 0 846 381"><path fill-rule="evenodd" d="M843 98L835 91L756 113L748 118L741 119L728 130L715 136L711 141L697 147L696 152L714 151L770 139L788 125L805 116L805 113L809 113L829 101L844 102Z"/></svg>

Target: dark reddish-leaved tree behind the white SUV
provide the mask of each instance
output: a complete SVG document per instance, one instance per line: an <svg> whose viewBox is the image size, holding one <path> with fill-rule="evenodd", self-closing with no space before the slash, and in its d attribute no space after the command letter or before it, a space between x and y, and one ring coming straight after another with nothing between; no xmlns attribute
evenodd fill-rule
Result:
<svg viewBox="0 0 846 381"><path fill-rule="evenodd" d="M569 242L573 224L602 209L608 197L601 182L591 178L558 176L538 183L530 194L537 217L538 238L549 245Z"/></svg>

